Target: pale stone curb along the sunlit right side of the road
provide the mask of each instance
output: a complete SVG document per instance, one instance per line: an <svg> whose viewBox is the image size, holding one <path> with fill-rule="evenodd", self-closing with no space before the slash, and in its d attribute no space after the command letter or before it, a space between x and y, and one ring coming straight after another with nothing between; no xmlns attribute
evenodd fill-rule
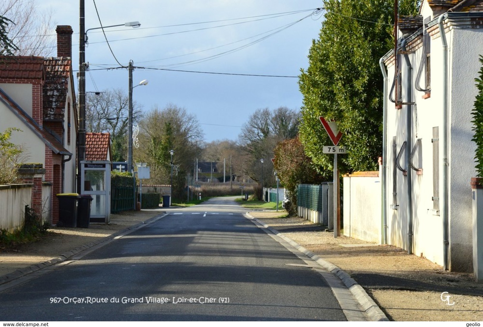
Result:
<svg viewBox="0 0 483 327"><path fill-rule="evenodd" d="M313 259L320 266L322 266L323 268L327 269L329 272L336 275L342 281L342 283L345 286L347 286L349 291L352 293L352 295L357 300L357 302L359 302L359 305L365 311L365 313L367 314L368 318L371 319L371 321L389 321L389 319L386 317L386 315L381 310L381 308L379 308L376 302L374 302L374 300L371 297L369 297L369 295L366 293L364 288L361 285L357 284L357 282L347 272L341 270L336 265L328 262L327 260L322 259L320 256L317 256L313 252L307 250L297 242L286 237L284 234L282 234L275 228L272 228L266 225L265 223L263 223L262 221L254 218L250 213L246 213L246 215L249 217L249 219L255 220L264 228L270 230L270 232L272 232L274 235L277 235L282 240L284 240L285 242L295 247L298 251L302 252L304 255Z"/></svg>

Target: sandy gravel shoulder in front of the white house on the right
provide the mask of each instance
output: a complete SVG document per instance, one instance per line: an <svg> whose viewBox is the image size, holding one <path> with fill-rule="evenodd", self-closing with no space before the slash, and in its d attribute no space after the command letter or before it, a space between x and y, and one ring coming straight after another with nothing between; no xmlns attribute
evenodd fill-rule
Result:
<svg viewBox="0 0 483 327"><path fill-rule="evenodd" d="M345 236L336 239L303 218L274 218L280 216L274 212L250 214L350 274L390 320L483 320L483 284L475 283L472 274L443 271L395 246ZM443 292L448 293L441 296ZM446 296L449 302L442 300Z"/></svg>

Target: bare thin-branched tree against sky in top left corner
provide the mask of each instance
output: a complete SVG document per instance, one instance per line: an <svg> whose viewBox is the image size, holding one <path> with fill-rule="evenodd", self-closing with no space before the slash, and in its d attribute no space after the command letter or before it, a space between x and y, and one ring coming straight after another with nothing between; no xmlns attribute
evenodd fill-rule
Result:
<svg viewBox="0 0 483 327"><path fill-rule="evenodd" d="M5 31L18 47L13 54L17 56L49 57L55 53L55 22L52 11L38 10L36 0L2 0L0 16L12 21Z"/></svg>

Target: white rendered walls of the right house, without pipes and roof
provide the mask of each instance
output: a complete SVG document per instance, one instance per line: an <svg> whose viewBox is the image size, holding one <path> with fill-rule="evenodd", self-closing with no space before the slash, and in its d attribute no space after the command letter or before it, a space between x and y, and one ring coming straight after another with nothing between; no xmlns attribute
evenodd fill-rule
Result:
<svg viewBox="0 0 483 327"><path fill-rule="evenodd" d="M476 96L474 78L480 69L479 51L483 49L483 30L472 28L450 28L446 31L449 45L448 58L449 81L449 225L450 225L450 270L471 270L471 189L470 178L474 172L475 144L471 141L471 109ZM431 96L423 99L424 92L414 88L415 77L419 68L422 48L409 54L412 62L412 144L406 151L412 151L417 139L421 138L421 148L415 156L414 164L423 168L423 173L417 175L412 171L412 214L413 243L415 255L424 256L429 260L443 264L442 217L433 210L433 157L432 128L439 127L440 136L440 194L442 194L442 45L439 33L431 40ZM402 63L403 100L406 98L407 70ZM388 68L389 89L394 77L394 65ZM420 85L424 86L424 76ZM388 91L389 91L388 89ZM408 248L408 208L407 208L407 176L397 171L398 209L392 209L393 198L393 154L392 139L397 137L397 150L406 141L406 119L408 106L396 110L394 103L388 101L388 240L390 244ZM404 155L400 161L406 169Z"/></svg>

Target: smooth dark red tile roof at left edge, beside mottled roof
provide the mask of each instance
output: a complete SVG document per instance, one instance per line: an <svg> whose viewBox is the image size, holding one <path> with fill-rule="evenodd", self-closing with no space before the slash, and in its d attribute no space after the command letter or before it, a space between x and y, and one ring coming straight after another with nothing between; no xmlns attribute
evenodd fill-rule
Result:
<svg viewBox="0 0 483 327"><path fill-rule="evenodd" d="M0 57L0 78L43 78L43 57Z"/></svg>

